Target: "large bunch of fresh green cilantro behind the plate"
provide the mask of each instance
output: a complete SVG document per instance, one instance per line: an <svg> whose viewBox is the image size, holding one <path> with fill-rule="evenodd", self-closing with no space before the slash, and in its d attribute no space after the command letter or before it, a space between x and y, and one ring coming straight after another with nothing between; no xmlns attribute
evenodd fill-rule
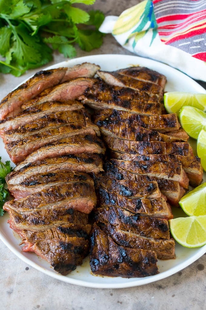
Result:
<svg viewBox="0 0 206 310"><path fill-rule="evenodd" d="M52 60L53 50L74 57L78 44L91 51L102 44L100 11L73 6L95 0L0 0L0 72L20 76Z"/></svg>

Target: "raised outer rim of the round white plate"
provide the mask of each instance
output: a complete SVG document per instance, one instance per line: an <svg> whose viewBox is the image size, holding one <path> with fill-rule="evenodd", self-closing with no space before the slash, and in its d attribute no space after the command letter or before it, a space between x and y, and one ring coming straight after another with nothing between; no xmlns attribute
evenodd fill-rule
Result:
<svg viewBox="0 0 206 310"><path fill-rule="evenodd" d="M65 60L62 62L59 62L57 64L53 64L51 66L48 66L47 68L44 68L43 70L48 70L48 69L53 69L53 68L58 68L60 66L63 67L70 67L73 66L77 63L81 64L82 62L88 61L88 62L96 62L98 61L98 58L105 58L105 57L110 57L110 58L114 58L114 61L117 58L120 57L124 57L124 62L127 61L127 59L131 59L134 61L140 61L141 62L148 62L148 67L150 66L150 64L154 64L154 65L158 65L160 64L161 67L168 69L169 71L173 71L174 73L178 73L178 75L181 77L186 77L187 79L189 79L192 84L194 84L196 86L196 88L198 89L198 91L202 92L202 93L206 93L206 90L197 82L195 82L192 78L190 78L189 76L187 76L185 73L170 67L167 64L161 63L159 61L156 60L151 60L149 58L144 58L144 57L139 57L136 55L124 55L124 54L97 54L97 55L87 55L87 56L81 56L81 57L76 57L73 59L69 59L69 60ZM130 60L130 62L131 62ZM34 75L34 74L33 74ZM31 75L30 77L26 78L23 82L21 82L19 85L25 83L29 78L31 78L33 75ZM16 89L19 85L17 85L14 89ZM13 89L13 90L14 90ZM2 219L3 220L3 219ZM8 228L11 229L11 228ZM171 275L173 275L176 272L179 272L180 270L183 270L184 268L186 268L187 266L191 265L191 263L194 263L197 259L199 259L202 255L204 255L204 253L206 252L206 245L202 246L201 248L197 248L197 252L195 253L195 255L192 255L191 257L187 258L186 260L184 260L183 262L179 263L177 266L173 266L172 268L160 272L157 275L154 276L150 276L150 277L144 277L144 278L129 278L128 282L124 282L124 283L95 283L95 282L87 282L85 280L79 280L79 279L74 279L69 277L69 275L67 276L63 276L53 270L47 270L44 267L40 266L39 264L33 262L31 259L25 257L21 251L21 248L19 246L19 250L15 249L15 246L13 246L12 244L10 244L10 242L6 239L6 237L4 237L4 235L1 232L1 228L0 228L0 239L2 240L2 242L17 256L19 257L19 259L23 260L25 263L29 264L30 266L32 266L33 268L37 269L40 272L43 272L45 274L47 274L50 277L53 277L57 280L60 281L64 281L70 284L74 284L74 285L78 285L78 286L84 286L84 287L90 287L90 288L128 288L128 287L134 287L134 286L141 286L141 285L145 285L145 284L149 284L155 281L159 281L162 280L166 277L169 277ZM36 255L36 254L34 254ZM80 266L81 267L81 266ZM94 275L95 276L95 275ZM96 276L95 276L96 277ZM109 277L107 277L109 278ZM116 279L118 279L118 277L116 277ZM137 280L133 280L133 279L137 279ZM131 281L133 280L133 281Z"/></svg>

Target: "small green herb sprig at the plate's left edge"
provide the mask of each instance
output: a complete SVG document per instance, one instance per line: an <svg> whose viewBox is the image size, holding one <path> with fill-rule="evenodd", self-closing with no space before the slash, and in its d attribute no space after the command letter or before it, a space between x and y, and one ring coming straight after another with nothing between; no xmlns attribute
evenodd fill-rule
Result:
<svg viewBox="0 0 206 310"><path fill-rule="evenodd" d="M0 216L4 214L3 205L6 201L6 198L9 194L8 190L5 188L6 184L6 175L10 173L13 168L10 165L10 161L6 161L5 164L1 161L0 157Z"/></svg>

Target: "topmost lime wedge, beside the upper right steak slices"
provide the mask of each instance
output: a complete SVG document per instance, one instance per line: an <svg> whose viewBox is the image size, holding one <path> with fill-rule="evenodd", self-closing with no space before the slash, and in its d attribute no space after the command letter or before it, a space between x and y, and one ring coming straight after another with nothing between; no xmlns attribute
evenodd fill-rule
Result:
<svg viewBox="0 0 206 310"><path fill-rule="evenodd" d="M177 113L178 115L184 105L206 111L206 94L171 91L164 94L164 104L168 113Z"/></svg>

